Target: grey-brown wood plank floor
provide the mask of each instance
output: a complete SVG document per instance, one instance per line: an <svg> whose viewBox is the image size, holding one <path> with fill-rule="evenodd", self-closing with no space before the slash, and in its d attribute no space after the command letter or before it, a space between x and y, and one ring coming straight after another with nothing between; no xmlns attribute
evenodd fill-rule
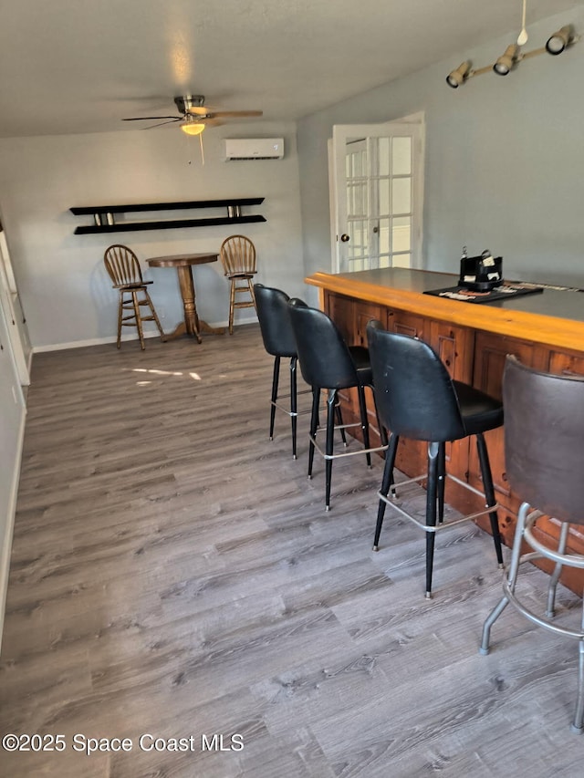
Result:
<svg viewBox="0 0 584 778"><path fill-rule="evenodd" d="M439 535L425 600L419 530L388 512L370 550L381 460L335 462L326 513L308 417L296 462L283 415L268 441L271 370L255 326L35 357L0 721L66 748L1 751L0 773L581 775L576 643L507 609L479 656L500 593L491 538ZM530 569L527 596L546 581ZM84 738L131 751L87 755Z"/></svg>

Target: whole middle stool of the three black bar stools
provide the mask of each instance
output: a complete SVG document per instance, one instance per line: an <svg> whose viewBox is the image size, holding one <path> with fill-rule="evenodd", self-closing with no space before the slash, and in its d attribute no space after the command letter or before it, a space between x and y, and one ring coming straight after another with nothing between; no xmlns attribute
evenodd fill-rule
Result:
<svg viewBox="0 0 584 778"><path fill-rule="evenodd" d="M364 453L367 463L371 463L372 451L384 451L383 431L381 446L371 448L369 420L365 401L365 387L371 387L371 368L369 352L362 346L347 346L339 329L323 311L308 307L302 300L294 298L288 303L290 322L297 347L298 360L302 376L312 388L312 412L310 416L309 448L308 448L308 478L312 477L315 448L325 459L326 488L325 509L330 508L330 482L332 461L343 456ZM334 453L335 416L338 407L339 389L357 389L360 407L360 428L363 435L364 448L360 451L344 451ZM316 441L318 430L318 406L320 392L328 391L327 399L327 432L325 451L318 448ZM354 426L344 424L343 428Z"/></svg>

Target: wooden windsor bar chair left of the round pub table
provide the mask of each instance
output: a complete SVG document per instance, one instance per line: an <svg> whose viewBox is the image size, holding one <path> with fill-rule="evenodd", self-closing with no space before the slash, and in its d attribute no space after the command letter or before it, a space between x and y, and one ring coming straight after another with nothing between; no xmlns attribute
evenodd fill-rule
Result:
<svg viewBox="0 0 584 778"><path fill-rule="evenodd" d="M140 262L133 251L121 244L110 245L103 255L103 262L113 282L113 288L120 293L118 305L118 341L121 344L121 328L136 327L142 351L144 350L144 332L142 322L153 321L158 327L162 340L165 339L160 320L148 294L147 286L151 281L144 281ZM142 316L141 307L150 308L150 316ZM126 316L124 316L126 313Z"/></svg>

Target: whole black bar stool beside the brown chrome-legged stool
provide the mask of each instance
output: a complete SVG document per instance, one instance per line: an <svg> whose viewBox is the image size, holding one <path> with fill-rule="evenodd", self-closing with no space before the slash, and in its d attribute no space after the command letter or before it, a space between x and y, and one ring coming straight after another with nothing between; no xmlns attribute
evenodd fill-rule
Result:
<svg viewBox="0 0 584 778"><path fill-rule="evenodd" d="M426 533L426 596L430 597L434 538L439 530L488 513L496 557L499 565L503 565L495 490L483 436L487 430L494 430L503 424L503 405L484 392L451 379L433 348L422 340L387 332L379 321L370 321L367 337L378 413L381 424L391 431L379 492L373 550L379 549L385 507L390 504ZM446 472L446 442L458 441L469 435L476 437L485 495ZM427 481L425 522L404 511L399 503L388 499L401 437L428 443L427 472L404 482ZM444 482L447 477L465 489L485 496L485 510L444 522Z"/></svg>

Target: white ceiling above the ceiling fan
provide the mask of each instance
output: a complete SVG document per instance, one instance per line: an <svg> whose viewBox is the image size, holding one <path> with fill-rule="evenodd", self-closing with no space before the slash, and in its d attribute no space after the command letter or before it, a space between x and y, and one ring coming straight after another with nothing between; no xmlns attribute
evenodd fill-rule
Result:
<svg viewBox="0 0 584 778"><path fill-rule="evenodd" d="M527 0L527 27L581 5ZM0 137L135 130L120 119L174 114L172 98L189 93L299 119L496 36L513 42L521 11L521 0L0 0Z"/></svg>

